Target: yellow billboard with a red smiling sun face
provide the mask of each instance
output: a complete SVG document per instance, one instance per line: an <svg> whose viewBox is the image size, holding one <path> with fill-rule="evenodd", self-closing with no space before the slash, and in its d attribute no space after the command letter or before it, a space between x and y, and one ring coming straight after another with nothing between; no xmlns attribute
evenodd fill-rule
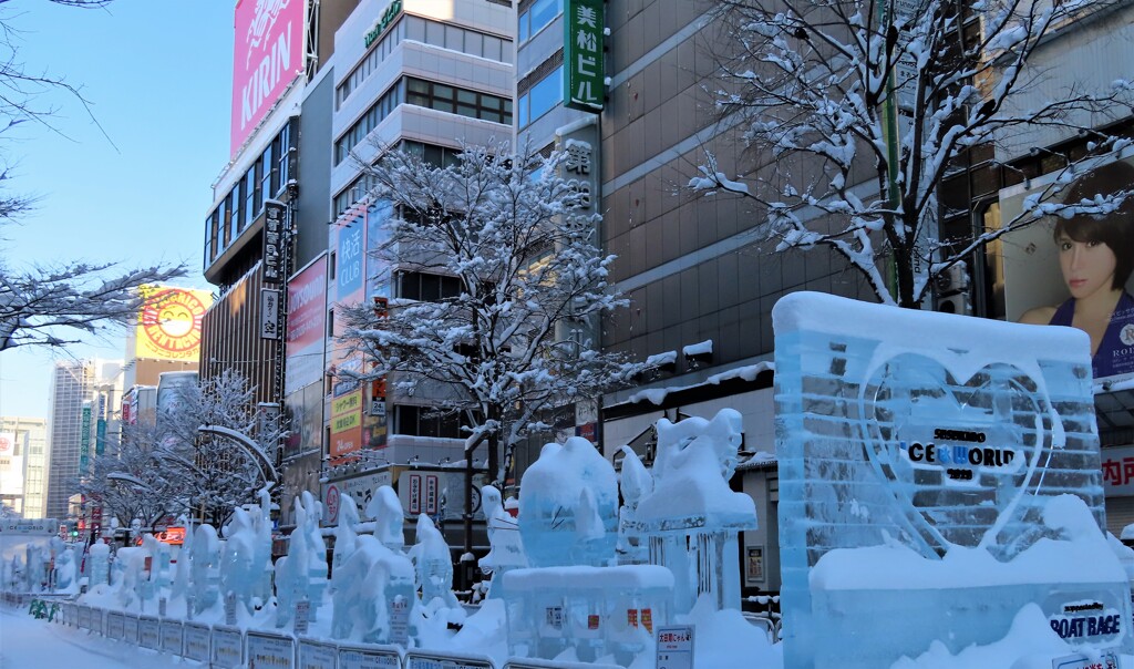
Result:
<svg viewBox="0 0 1134 669"><path fill-rule="evenodd" d="M134 332L138 359L196 361L201 355L201 319L212 304L206 290L143 286L144 304Z"/></svg>

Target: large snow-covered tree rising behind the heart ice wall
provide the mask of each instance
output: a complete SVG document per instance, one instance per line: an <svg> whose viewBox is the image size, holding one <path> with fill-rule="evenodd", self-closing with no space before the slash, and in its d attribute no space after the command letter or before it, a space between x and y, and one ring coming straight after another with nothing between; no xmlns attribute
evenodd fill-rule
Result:
<svg viewBox="0 0 1134 669"><path fill-rule="evenodd" d="M833 249L883 303L919 305L939 273L1051 213L1076 169L1068 166L999 229L942 239L938 189L965 152L1052 126L1092 133L1089 156L1127 143L1092 127L1129 109L1126 81L1106 90L1051 86L1040 104L1016 102L1047 85L1050 73L1031 62L1036 50L1112 8L1109 0L719 6L733 51L718 49L718 108L760 164L730 177L709 153L689 185L751 198L761 238L777 251Z"/></svg>

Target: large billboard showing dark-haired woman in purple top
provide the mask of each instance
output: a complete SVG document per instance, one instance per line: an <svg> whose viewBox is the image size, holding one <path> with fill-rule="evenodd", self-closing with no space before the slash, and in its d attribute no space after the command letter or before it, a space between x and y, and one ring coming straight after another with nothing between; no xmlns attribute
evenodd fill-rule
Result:
<svg viewBox="0 0 1134 669"><path fill-rule="evenodd" d="M1057 201L1093 201L1134 184L1134 159L1080 169ZM1000 223L1056 175L1000 192ZM1049 215L1004 236L1005 313L1009 321L1070 325L1091 336L1094 379L1134 376L1134 195L1106 214ZM1069 213L1069 212L1068 212ZM1057 223L1063 231L1056 239ZM1099 314L1091 317L1091 314Z"/></svg>

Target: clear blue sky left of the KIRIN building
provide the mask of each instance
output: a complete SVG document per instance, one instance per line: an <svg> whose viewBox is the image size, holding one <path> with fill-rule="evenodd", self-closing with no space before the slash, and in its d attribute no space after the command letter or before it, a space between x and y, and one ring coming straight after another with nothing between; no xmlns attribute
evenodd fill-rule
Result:
<svg viewBox="0 0 1134 669"><path fill-rule="evenodd" d="M12 266L76 260L127 266L185 263L178 285L201 276L211 184L227 163L235 0L115 0L107 9L45 0L0 5L20 31L26 71L81 86L98 125L74 99L58 108L58 133L24 124L0 137L14 161L11 192L41 197L18 225L0 227ZM101 125L101 128L99 126ZM105 133L105 135L103 134ZM66 353L0 354L0 415L48 416L50 372L67 357L125 357L125 332Z"/></svg>

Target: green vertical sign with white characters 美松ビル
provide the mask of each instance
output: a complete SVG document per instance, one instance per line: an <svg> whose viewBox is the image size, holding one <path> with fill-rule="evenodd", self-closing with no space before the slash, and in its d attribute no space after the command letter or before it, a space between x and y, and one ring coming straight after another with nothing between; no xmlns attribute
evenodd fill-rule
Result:
<svg viewBox="0 0 1134 669"><path fill-rule="evenodd" d="M602 0L564 2L564 105L602 110L606 69L602 62Z"/></svg>

